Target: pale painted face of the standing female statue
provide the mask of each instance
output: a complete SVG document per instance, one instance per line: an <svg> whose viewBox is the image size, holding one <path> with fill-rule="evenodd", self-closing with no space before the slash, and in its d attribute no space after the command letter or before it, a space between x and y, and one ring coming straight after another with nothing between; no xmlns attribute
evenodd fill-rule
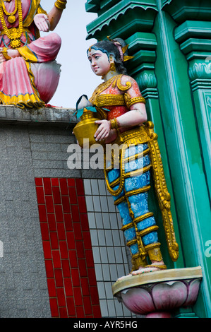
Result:
<svg viewBox="0 0 211 332"><path fill-rule="evenodd" d="M109 72L110 61L107 54L100 51L100 49L90 49L88 60L90 61L92 71L97 76L104 76Z"/></svg>

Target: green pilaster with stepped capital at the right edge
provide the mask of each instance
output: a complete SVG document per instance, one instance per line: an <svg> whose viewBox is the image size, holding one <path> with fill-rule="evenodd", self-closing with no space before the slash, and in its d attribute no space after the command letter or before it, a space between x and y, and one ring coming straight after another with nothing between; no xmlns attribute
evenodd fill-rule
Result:
<svg viewBox="0 0 211 332"><path fill-rule="evenodd" d="M211 9L211 4L210 4ZM186 20L175 29L175 40L188 61L195 117L202 146L207 189L211 190L211 22ZM211 193L210 193L211 194Z"/></svg>

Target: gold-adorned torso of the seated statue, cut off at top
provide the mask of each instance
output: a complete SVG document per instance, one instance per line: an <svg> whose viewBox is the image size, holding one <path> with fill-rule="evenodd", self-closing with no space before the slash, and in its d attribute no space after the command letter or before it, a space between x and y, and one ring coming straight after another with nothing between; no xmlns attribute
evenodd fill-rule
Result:
<svg viewBox="0 0 211 332"><path fill-rule="evenodd" d="M46 13L40 6L40 0L11 0L3 3L4 6L0 7L1 46L11 47L10 40L14 34L20 34L21 46L40 37L33 23L36 13Z"/></svg>

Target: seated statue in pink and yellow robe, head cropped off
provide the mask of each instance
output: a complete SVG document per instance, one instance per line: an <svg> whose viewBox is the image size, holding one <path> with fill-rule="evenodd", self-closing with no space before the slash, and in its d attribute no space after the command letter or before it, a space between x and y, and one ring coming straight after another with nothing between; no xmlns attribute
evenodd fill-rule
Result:
<svg viewBox="0 0 211 332"><path fill-rule="evenodd" d="M59 83L61 38L52 32L66 8L56 0L47 14L40 0L0 0L0 103L44 107Z"/></svg>

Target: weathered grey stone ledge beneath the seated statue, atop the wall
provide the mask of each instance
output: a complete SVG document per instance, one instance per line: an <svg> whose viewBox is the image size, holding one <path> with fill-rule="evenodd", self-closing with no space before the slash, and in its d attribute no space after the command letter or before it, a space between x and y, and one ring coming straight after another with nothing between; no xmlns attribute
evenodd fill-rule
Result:
<svg viewBox="0 0 211 332"><path fill-rule="evenodd" d="M20 109L13 105L0 105L1 124L44 124L44 125L76 125L78 120L73 115L75 109L61 107L43 107L40 109Z"/></svg>

